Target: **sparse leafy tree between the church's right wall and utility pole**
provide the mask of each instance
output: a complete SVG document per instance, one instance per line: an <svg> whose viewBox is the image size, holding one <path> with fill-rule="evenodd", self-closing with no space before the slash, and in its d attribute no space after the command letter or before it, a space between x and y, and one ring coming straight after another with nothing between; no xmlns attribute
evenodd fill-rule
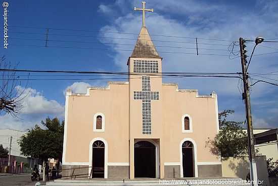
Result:
<svg viewBox="0 0 278 186"><path fill-rule="evenodd" d="M242 130L241 122L227 121L234 110L224 110L218 114L221 129L214 139L208 139L207 146L214 155L221 155L223 160L229 157L239 158L248 154L247 133Z"/></svg>

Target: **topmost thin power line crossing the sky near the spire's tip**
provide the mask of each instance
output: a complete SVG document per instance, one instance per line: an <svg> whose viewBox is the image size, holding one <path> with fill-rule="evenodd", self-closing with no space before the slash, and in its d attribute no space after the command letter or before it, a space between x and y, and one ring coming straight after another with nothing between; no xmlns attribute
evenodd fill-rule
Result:
<svg viewBox="0 0 278 186"><path fill-rule="evenodd" d="M46 28L46 27L31 27L31 26L13 26L10 27L21 27L21 28L36 28L36 29L52 29L52 30L69 30L69 31L84 31L84 32L104 32L104 33L119 33L119 34L131 34L131 35L153 35L153 36L164 36L169 38L184 38L184 39L196 39L196 37L185 37L185 36L175 36L175 35L161 35L161 34L138 34L138 33L128 33L128 32L114 32L114 31L103 31L103 30L79 30L79 29L65 29L65 28ZM231 42L228 40L221 39L208 39L208 38L198 38L199 40L214 40L214 41L223 41Z"/></svg>

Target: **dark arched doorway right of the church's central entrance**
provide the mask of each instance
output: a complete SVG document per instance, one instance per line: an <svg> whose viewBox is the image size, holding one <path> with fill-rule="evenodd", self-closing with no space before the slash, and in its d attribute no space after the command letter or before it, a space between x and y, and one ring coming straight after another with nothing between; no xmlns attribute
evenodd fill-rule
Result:
<svg viewBox="0 0 278 186"><path fill-rule="evenodd" d="M183 177L194 177L193 144L191 141L182 143Z"/></svg>

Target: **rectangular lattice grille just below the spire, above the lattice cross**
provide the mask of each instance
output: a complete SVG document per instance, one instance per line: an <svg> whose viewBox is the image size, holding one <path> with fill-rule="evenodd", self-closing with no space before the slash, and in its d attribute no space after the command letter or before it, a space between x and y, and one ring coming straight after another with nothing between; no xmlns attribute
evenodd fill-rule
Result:
<svg viewBox="0 0 278 186"><path fill-rule="evenodd" d="M137 73L158 73L158 61L134 60L133 72Z"/></svg>

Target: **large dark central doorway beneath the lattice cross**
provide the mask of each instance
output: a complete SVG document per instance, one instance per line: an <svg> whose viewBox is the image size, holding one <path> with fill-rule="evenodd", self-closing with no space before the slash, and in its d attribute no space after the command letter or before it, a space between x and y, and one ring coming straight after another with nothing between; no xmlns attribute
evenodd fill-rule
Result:
<svg viewBox="0 0 278 186"><path fill-rule="evenodd" d="M134 144L134 177L155 178L156 147L149 141Z"/></svg>

